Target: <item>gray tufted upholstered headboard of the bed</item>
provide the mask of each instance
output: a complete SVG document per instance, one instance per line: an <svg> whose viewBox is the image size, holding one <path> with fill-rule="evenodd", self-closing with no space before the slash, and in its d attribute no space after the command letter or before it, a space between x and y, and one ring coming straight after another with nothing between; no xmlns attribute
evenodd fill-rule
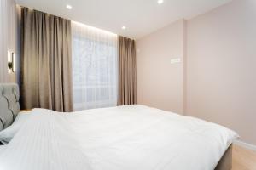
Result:
<svg viewBox="0 0 256 170"><path fill-rule="evenodd" d="M0 83L0 131L9 127L20 111L20 92L17 84Z"/></svg>

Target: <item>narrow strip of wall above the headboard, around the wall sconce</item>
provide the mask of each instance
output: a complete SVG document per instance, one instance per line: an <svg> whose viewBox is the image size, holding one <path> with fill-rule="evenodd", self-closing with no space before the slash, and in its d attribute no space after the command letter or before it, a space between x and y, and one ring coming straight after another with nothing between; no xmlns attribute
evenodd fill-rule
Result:
<svg viewBox="0 0 256 170"><path fill-rule="evenodd" d="M0 82L16 82L16 74L8 73L8 50L17 53L17 13L15 0L0 2ZM18 57L18 56L17 56Z"/></svg>

